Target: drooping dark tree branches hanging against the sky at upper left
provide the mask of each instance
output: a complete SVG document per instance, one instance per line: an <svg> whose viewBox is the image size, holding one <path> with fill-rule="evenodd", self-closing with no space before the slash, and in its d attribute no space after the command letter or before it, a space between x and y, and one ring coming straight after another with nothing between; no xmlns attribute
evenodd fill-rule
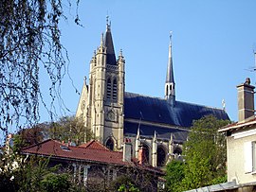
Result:
<svg viewBox="0 0 256 192"><path fill-rule="evenodd" d="M1 0L0 130L6 135L10 126L37 123L40 101L51 118L55 100L63 104L60 86L68 58L59 24L66 19L65 4L72 5L69 0ZM79 24L78 16L75 22ZM48 75L49 105L41 92L42 69Z"/></svg>

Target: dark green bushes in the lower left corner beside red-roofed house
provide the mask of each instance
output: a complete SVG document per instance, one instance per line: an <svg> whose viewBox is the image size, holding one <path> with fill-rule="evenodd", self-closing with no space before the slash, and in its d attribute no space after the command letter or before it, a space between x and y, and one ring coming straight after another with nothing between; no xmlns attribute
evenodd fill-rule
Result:
<svg viewBox="0 0 256 192"><path fill-rule="evenodd" d="M60 166L48 167L49 158L20 155L23 146L17 134L13 147L1 154L0 191L82 191L76 190L68 175L54 174Z"/></svg>

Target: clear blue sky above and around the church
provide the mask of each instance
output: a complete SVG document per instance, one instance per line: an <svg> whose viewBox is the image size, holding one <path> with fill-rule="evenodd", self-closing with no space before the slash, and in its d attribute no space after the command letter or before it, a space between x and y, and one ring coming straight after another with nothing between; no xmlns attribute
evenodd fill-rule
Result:
<svg viewBox="0 0 256 192"><path fill-rule="evenodd" d="M255 73L248 70L256 49L255 0L87 0L79 12L84 27L76 26L72 15L62 25L79 91L108 14L116 55L122 49L126 60L127 92L164 96L172 30L176 99L216 108L225 99L230 119L237 120L236 85L247 77L255 84ZM68 79L62 93L68 114L75 114L80 96ZM41 115L48 120L44 110Z"/></svg>

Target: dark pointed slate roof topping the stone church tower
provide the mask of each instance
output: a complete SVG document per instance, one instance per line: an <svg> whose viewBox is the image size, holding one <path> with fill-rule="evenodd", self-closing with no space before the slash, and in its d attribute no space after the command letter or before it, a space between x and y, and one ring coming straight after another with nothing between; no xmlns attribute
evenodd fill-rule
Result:
<svg viewBox="0 0 256 192"><path fill-rule="evenodd" d="M105 33L104 46L107 48L106 49L106 63L111 64L111 65L117 65L111 30L110 30L110 26L108 26L108 25L107 25L107 29L106 29L106 33Z"/></svg>

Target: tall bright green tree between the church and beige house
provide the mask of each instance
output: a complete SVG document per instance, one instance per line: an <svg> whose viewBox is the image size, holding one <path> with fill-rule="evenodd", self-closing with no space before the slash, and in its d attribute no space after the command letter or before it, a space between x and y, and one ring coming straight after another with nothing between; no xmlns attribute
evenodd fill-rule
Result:
<svg viewBox="0 0 256 192"><path fill-rule="evenodd" d="M185 177L183 189L198 188L223 181L226 176L226 137L218 129L229 120L206 116L193 122L189 140L185 144Z"/></svg>

